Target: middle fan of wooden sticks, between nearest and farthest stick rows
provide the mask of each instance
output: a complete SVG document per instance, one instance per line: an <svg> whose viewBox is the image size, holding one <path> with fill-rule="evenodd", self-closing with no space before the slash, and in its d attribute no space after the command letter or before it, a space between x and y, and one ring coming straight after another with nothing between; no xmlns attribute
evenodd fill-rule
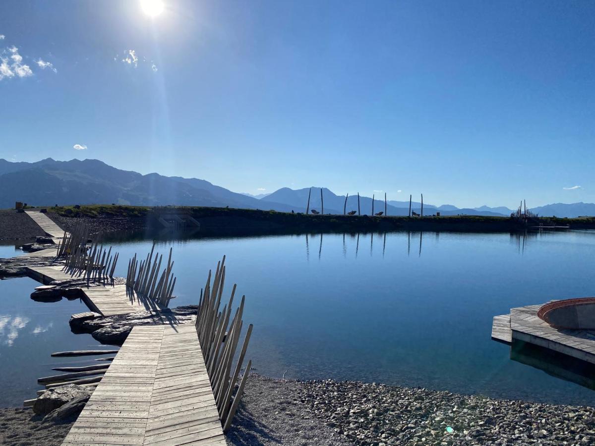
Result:
<svg viewBox="0 0 595 446"><path fill-rule="evenodd" d="M156 253L155 258L153 253L155 251L155 243L151 248L145 260L137 260L136 254L128 262L128 274L126 275L126 286L131 290L136 291L142 297L146 297L167 307L173 297L174 287L176 286L176 278L172 274L174 262L171 261L170 256L167 259L167 266L161 272L159 281L159 269L161 269L161 261L163 255Z"/></svg>

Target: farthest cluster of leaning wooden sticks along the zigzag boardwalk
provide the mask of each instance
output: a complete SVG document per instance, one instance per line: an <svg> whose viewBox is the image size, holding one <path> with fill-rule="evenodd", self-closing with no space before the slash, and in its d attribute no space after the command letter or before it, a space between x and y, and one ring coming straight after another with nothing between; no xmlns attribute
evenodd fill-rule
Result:
<svg viewBox="0 0 595 446"><path fill-rule="evenodd" d="M106 250L99 244L101 234L96 234L96 241L87 247L88 237L84 222L77 224L72 233L64 233L58 246L58 257L64 257L65 262L62 269L73 277L86 277L87 282L113 278L118 253L111 255L111 246Z"/></svg>

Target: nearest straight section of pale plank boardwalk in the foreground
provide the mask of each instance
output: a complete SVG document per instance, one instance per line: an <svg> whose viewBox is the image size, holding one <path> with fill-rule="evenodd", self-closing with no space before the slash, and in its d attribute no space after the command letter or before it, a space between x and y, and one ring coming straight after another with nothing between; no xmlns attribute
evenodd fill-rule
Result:
<svg viewBox="0 0 595 446"><path fill-rule="evenodd" d="M136 326L63 446L225 446L196 329Z"/></svg>

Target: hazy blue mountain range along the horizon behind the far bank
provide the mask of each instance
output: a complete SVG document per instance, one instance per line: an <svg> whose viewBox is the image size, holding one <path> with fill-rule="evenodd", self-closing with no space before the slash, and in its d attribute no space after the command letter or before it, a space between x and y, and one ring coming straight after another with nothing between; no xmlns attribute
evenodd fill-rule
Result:
<svg viewBox="0 0 595 446"><path fill-rule="evenodd" d="M71 205L117 203L122 205L183 205L214 206L245 209L264 209L280 212L305 212L311 191L310 209L324 213L343 213L358 210L358 197L334 194L327 188L289 189L283 187L270 194L253 196L235 193L198 178L165 177L156 173L142 175L111 167L97 159L55 161L52 158L37 162L10 162L0 159L0 208L12 208L16 201L29 205ZM345 204L346 203L346 204ZM389 215L408 215L409 202L389 200ZM421 203L412 202L412 211L420 213ZM359 197L359 210L371 215L372 198ZM374 212L384 212L384 199L374 200ZM543 216L576 217L595 215L594 203L555 203L531 211ZM453 205L435 206L424 203L424 215L493 215L509 216L511 209L456 208Z"/></svg>

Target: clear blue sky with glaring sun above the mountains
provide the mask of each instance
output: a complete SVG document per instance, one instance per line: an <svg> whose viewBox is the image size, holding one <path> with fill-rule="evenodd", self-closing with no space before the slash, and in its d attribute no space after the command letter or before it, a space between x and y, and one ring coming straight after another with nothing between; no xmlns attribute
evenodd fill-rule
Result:
<svg viewBox="0 0 595 446"><path fill-rule="evenodd" d="M0 158L253 194L595 201L595 2L164 5L3 1Z"/></svg>

